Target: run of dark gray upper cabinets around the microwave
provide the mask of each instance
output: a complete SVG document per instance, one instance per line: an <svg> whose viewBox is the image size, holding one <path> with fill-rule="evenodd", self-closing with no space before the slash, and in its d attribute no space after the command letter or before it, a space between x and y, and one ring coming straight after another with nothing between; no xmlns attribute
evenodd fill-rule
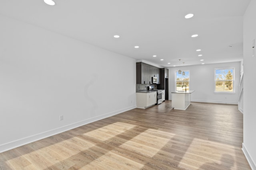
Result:
<svg viewBox="0 0 256 170"><path fill-rule="evenodd" d="M136 63L136 84L152 84L152 77L157 77L160 83L160 68L146 64Z"/></svg>

